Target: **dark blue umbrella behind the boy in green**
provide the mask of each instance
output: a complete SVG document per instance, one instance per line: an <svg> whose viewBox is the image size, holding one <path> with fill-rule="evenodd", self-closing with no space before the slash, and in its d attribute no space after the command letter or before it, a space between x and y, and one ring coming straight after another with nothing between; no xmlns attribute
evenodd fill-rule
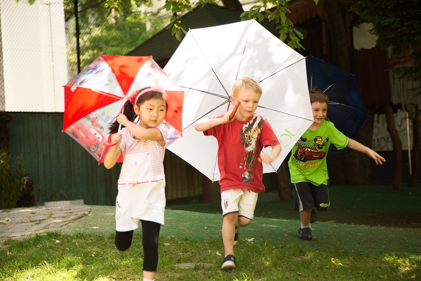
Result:
<svg viewBox="0 0 421 281"><path fill-rule="evenodd" d="M358 90L355 75L330 65L314 56L306 57L309 89L317 88L329 98L327 117L347 137L355 139L370 116ZM347 153L330 146L328 156Z"/></svg>

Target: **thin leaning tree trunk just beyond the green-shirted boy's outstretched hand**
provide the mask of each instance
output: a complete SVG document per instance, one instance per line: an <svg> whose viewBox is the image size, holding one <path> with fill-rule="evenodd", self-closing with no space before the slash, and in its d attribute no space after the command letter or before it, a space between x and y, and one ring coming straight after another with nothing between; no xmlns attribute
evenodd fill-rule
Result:
<svg viewBox="0 0 421 281"><path fill-rule="evenodd" d="M402 189L402 142L399 138L395 126L395 117L393 115L392 105L384 105L384 114L386 116L387 131L393 144L393 178L392 189Z"/></svg>

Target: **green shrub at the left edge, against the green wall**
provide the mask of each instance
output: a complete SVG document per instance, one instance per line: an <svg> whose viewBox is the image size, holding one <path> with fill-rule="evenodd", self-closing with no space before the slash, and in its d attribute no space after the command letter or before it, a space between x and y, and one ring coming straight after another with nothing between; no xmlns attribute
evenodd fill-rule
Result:
<svg viewBox="0 0 421 281"><path fill-rule="evenodd" d="M22 157L11 164L7 151L0 151L0 209L15 208L26 190L28 177L24 174Z"/></svg>

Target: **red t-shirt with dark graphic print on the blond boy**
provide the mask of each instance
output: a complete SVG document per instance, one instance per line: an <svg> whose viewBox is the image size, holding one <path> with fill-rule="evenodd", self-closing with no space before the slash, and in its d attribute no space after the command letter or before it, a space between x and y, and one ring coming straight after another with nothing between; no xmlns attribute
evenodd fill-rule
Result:
<svg viewBox="0 0 421 281"><path fill-rule="evenodd" d="M254 113L246 121L235 118L203 133L205 136L214 136L218 141L221 192L233 188L264 191L263 165L257 157L260 156L263 147L280 143L269 122L262 115Z"/></svg>

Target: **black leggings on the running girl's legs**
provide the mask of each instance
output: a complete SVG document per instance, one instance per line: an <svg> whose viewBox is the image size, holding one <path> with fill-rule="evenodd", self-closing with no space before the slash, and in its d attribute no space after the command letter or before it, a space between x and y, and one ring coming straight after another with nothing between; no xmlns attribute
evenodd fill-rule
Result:
<svg viewBox="0 0 421 281"><path fill-rule="evenodd" d="M157 271L158 267L158 239L161 225L154 222L142 222L143 270ZM115 246L120 251L127 250L132 244L133 231L115 231Z"/></svg>

